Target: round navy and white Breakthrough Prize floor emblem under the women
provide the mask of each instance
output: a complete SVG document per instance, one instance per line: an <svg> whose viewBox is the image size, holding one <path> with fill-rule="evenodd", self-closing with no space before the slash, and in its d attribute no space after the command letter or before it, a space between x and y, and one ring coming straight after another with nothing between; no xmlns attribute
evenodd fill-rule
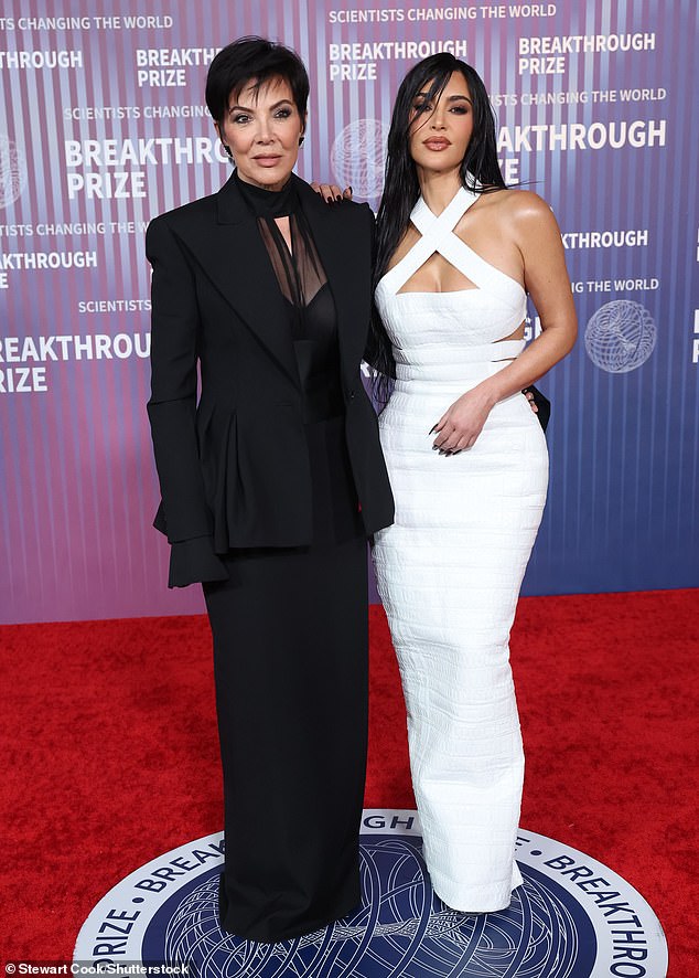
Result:
<svg viewBox="0 0 699 978"><path fill-rule="evenodd" d="M467 915L432 893L421 841L416 812L366 810L362 907L269 945L221 929L223 837L197 839L115 886L85 922L74 959L112 974L119 963L182 965L192 978L665 978L657 917L596 860L520 830L524 885L506 911Z"/></svg>

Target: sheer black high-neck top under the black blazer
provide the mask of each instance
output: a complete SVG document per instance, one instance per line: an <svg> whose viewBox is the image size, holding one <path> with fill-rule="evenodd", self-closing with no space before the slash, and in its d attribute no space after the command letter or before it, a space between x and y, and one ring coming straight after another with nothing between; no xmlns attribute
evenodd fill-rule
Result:
<svg viewBox="0 0 699 978"><path fill-rule="evenodd" d="M304 422L325 421L344 412L340 382L337 319L325 270L311 228L291 182L280 191L240 180L240 193L257 216L281 294L303 392ZM275 217L289 217L291 251Z"/></svg>

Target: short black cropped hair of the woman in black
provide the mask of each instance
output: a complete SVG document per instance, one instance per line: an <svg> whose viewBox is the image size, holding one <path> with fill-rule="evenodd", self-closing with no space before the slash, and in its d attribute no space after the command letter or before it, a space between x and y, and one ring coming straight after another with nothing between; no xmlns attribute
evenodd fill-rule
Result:
<svg viewBox="0 0 699 978"><path fill-rule="evenodd" d="M206 75L206 105L216 123L228 111L230 95L236 97L249 84L259 89L272 78L283 78L293 94L299 115L305 115L309 75L305 65L290 47L265 38L239 38L214 57Z"/></svg>

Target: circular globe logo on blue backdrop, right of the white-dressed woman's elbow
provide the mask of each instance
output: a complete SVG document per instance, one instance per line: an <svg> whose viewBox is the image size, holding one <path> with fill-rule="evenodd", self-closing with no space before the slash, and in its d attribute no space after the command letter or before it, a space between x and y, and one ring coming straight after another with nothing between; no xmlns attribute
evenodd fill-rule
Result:
<svg viewBox="0 0 699 978"><path fill-rule="evenodd" d="M607 373L628 373L645 363L655 348L655 320L639 302L616 299L594 312L585 329L585 350Z"/></svg>

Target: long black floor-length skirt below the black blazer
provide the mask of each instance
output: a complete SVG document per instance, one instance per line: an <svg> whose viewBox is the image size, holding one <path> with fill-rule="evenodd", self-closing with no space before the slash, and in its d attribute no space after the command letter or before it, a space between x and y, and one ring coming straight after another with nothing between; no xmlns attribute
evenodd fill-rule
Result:
<svg viewBox="0 0 699 978"><path fill-rule="evenodd" d="M229 580L204 586L224 773L221 922L265 942L310 933L361 899L366 540L343 418L307 433L312 545L230 551Z"/></svg>

